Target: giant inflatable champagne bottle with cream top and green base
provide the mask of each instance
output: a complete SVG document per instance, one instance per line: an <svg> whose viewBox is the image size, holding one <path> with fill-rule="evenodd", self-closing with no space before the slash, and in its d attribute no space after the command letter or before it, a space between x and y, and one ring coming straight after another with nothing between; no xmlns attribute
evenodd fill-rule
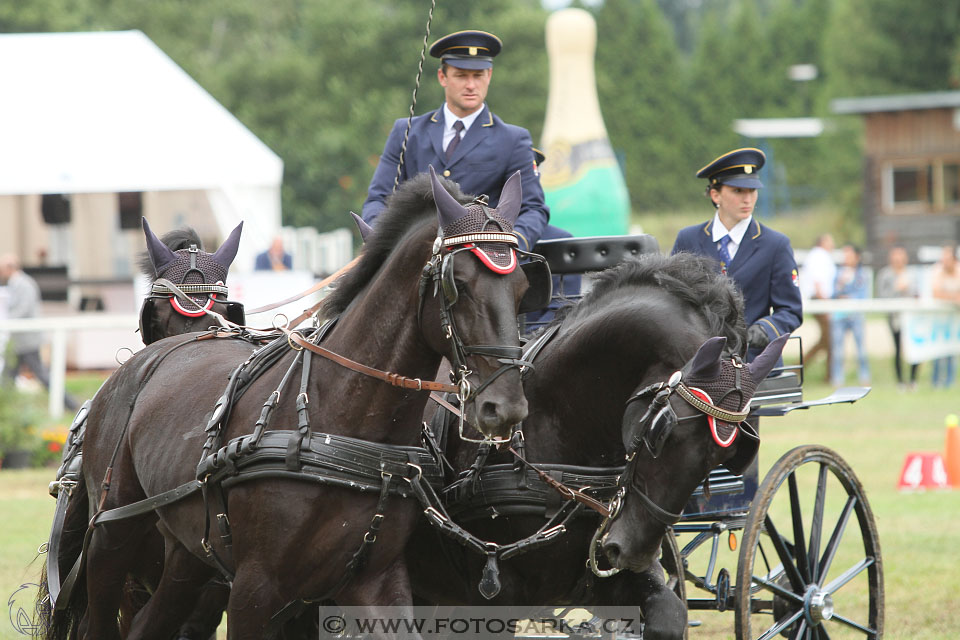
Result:
<svg viewBox="0 0 960 640"><path fill-rule="evenodd" d="M594 53L597 24L583 9L547 19L550 89L540 183L550 224L575 236L627 233L630 200L600 115Z"/></svg>

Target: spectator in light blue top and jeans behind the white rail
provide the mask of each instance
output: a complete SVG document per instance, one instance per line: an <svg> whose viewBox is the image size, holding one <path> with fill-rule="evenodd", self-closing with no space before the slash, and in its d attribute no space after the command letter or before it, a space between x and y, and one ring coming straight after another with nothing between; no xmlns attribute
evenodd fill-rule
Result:
<svg viewBox="0 0 960 640"><path fill-rule="evenodd" d="M833 297L837 299L862 299L870 296L867 274L860 264L860 249L852 244L843 247L843 263L837 270L837 279L833 284ZM860 384L870 383L870 365L863 342L864 317L860 312L838 311L833 314L830 336L833 341L833 369L830 382L834 386L844 383L843 341L847 332L853 334L857 349L857 376Z"/></svg>

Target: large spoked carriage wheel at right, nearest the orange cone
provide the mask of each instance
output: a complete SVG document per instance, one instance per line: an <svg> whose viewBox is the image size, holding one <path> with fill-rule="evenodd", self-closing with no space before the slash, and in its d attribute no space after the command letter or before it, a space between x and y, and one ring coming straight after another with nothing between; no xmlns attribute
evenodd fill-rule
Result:
<svg viewBox="0 0 960 640"><path fill-rule="evenodd" d="M877 526L832 450L792 449L764 478L744 525L735 599L740 639L883 636Z"/></svg>

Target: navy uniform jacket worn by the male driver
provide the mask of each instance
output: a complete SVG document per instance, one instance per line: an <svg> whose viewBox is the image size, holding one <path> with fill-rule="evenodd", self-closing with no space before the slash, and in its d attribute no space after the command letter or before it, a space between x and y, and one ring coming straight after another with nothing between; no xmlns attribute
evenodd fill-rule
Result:
<svg viewBox="0 0 960 640"><path fill-rule="evenodd" d="M464 193L485 193L490 196L490 206L496 207L503 184L519 170L523 202L513 230L520 236L520 248L529 251L543 235L550 218L543 202L540 178L533 171L530 132L505 123L484 105L448 163L443 149L443 127L442 107L413 119L400 182L428 171L427 167L432 164L438 174L458 183ZM407 119L397 120L384 145L363 203L362 217L367 224L373 224L384 208L384 200L393 193L406 129Z"/></svg>

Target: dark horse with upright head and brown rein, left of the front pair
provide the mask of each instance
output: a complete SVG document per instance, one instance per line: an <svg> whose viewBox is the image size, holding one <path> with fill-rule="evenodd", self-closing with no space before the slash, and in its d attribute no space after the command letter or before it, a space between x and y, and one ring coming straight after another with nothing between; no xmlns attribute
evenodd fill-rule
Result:
<svg viewBox="0 0 960 640"><path fill-rule="evenodd" d="M119 637L126 576L157 570L140 562L154 557L143 546L154 527L166 542L162 574L131 638L172 635L218 564L233 577L232 639L264 637L271 617L299 599L409 604L402 552L418 510L398 496L430 471L414 445L426 390L451 386L428 382L441 358L457 365L467 421L485 436L507 435L526 415L518 370L504 364L518 363L516 315L528 288L513 268L519 205L519 174L496 210L462 207L436 178L405 183L327 299L335 323L267 346L219 337L234 332L170 338L125 363L90 408L74 493L97 523L86 589L76 590L85 593L70 601L86 596L88 606L58 602L67 610L54 613L48 637L66 637L70 621L77 630L84 614L81 633ZM187 497L111 518L178 488Z"/></svg>

